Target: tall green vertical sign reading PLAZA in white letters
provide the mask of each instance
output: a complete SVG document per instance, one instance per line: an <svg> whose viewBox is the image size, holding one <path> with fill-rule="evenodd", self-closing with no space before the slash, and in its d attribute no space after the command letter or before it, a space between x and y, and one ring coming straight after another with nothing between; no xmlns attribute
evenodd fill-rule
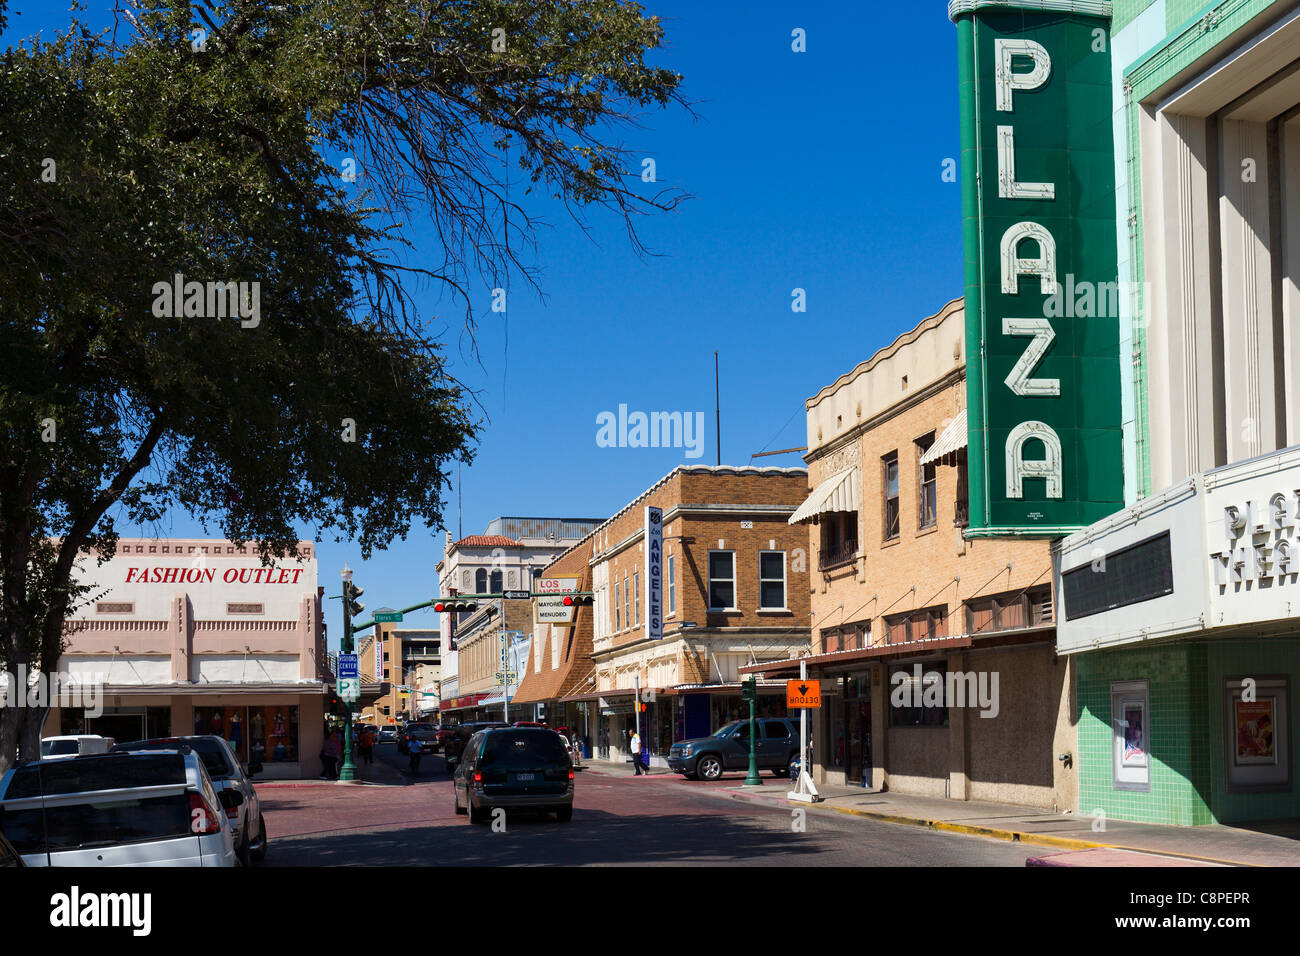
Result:
<svg viewBox="0 0 1300 956"><path fill-rule="evenodd" d="M953 0L970 536L1123 507L1110 4Z"/></svg>

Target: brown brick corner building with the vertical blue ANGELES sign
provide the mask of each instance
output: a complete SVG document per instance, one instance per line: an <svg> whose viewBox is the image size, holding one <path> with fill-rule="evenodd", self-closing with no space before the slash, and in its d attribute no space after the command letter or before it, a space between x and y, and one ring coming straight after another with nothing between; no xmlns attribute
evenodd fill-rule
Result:
<svg viewBox="0 0 1300 956"><path fill-rule="evenodd" d="M740 667L807 649L806 536L788 520L806 485L803 468L682 466L581 542L590 551L584 589L594 593L594 604L578 611L573 628L551 630L546 646L534 652L540 661L529 661L536 674L529 695L559 693L552 726L576 724L595 749L623 753L640 702L642 739L662 758L673 740L707 735L740 717ZM663 510L658 640L646 632L646 507ZM577 550L545 575L576 571ZM542 680L547 671L550 685ZM637 685L641 701L633 700ZM784 687L760 692L760 714L785 713Z"/></svg>

